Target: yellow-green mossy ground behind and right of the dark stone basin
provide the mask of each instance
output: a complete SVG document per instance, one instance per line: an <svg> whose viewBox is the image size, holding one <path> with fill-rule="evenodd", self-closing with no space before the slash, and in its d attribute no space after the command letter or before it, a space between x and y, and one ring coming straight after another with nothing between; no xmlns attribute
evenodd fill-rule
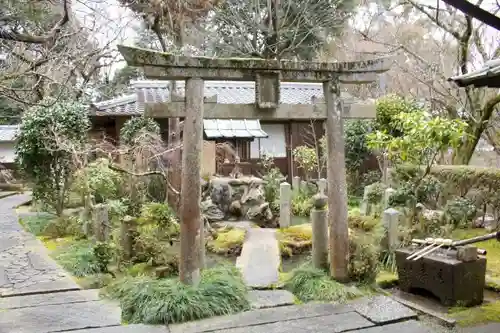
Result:
<svg viewBox="0 0 500 333"><path fill-rule="evenodd" d="M487 234L484 229L457 229L453 232L453 239L466 239ZM486 258L486 274L492 278L500 278L500 242L492 239L486 242L474 244L478 248L485 249L488 253Z"/></svg>

